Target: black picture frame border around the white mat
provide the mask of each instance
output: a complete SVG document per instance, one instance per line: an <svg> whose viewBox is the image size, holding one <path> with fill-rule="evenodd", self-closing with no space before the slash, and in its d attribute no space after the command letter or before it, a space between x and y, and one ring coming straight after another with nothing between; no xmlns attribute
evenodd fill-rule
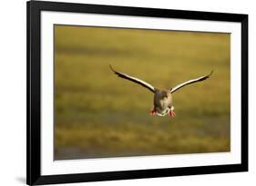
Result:
<svg viewBox="0 0 256 186"><path fill-rule="evenodd" d="M111 181L180 175L248 171L248 15L168 10L113 5L84 5L29 1L27 11L27 130L26 183L28 185L82 181ZM190 20L225 21L241 23L241 163L198 167L180 167L139 171L108 171L65 175L41 174L41 73L40 73L40 13L41 11L93 13L102 15L136 15L180 18Z"/></svg>

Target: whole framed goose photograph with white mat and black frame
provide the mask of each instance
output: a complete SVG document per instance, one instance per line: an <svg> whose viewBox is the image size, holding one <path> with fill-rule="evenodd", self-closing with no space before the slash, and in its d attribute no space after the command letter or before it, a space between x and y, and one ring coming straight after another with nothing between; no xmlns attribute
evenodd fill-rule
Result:
<svg viewBox="0 0 256 186"><path fill-rule="evenodd" d="M248 171L248 15L27 2L27 184Z"/></svg>

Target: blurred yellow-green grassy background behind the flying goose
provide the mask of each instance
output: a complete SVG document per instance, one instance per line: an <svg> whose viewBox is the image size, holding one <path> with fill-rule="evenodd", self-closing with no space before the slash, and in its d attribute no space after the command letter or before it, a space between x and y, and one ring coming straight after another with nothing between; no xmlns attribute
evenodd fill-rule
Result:
<svg viewBox="0 0 256 186"><path fill-rule="evenodd" d="M173 93L176 117L150 116ZM55 25L55 160L230 151L230 34Z"/></svg>

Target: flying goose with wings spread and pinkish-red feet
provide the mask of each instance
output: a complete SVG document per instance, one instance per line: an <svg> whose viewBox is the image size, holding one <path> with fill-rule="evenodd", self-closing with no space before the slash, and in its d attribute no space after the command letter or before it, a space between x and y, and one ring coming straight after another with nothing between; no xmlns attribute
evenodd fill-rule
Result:
<svg viewBox="0 0 256 186"><path fill-rule="evenodd" d="M136 77L130 76L126 73L118 73L118 71L114 70L114 68L109 64L109 67L111 71L118 75L118 77L124 78L128 81L138 83L139 85L147 88L151 93L154 93L154 99L153 99L153 109L150 110L150 115L155 116L165 116L169 115L171 117L176 116L174 113L174 106L173 106L173 99L172 99L172 93L175 93L180 88L189 85L191 83L197 83L204 81L210 77L210 75L213 73L211 71L208 75L203 75L195 79L190 79L187 82L179 83L178 85L174 86L173 88L170 88L168 90L160 90L158 88L155 88L151 84L144 82Z"/></svg>

